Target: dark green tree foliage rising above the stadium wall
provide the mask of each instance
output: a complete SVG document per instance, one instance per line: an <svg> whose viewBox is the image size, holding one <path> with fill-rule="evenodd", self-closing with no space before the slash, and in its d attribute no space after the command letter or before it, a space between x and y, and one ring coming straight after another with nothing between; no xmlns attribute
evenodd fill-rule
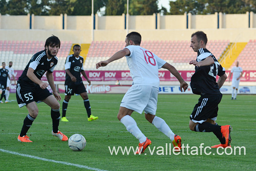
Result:
<svg viewBox="0 0 256 171"><path fill-rule="evenodd" d="M93 13L106 7L105 15L122 15L126 13L127 0L94 0ZM158 9L158 0L129 0L130 15L183 15L184 13L214 14L222 12L256 13L256 0L176 0L170 1L170 12ZM0 0L2 15L91 15L92 0Z"/></svg>

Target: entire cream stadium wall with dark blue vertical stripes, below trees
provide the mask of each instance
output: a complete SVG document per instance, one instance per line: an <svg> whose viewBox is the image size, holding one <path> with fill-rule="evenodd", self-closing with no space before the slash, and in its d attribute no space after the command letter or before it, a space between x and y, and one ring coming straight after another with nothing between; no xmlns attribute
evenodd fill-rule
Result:
<svg viewBox="0 0 256 171"><path fill-rule="evenodd" d="M125 29L122 16L7 16L0 15L0 40L45 40L52 34L62 41L91 43L124 41L128 32L141 33L142 40L190 40L190 35L203 30L209 40L248 42L256 39L256 14L129 16ZM95 29L93 29L95 27Z"/></svg>

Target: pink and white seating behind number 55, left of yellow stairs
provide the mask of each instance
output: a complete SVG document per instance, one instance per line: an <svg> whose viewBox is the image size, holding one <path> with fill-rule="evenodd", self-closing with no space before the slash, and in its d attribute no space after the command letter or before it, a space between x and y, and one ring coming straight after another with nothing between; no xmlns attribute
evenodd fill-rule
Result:
<svg viewBox="0 0 256 171"><path fill-rule="evenodd" d="M38 51L44 50L45 41L0 41L1 62L13 61L13 66L17 70L23 70L31 57ZM62 42L58 52L58 64L56 69L64 68L66 56L71 49L71 42Z"/></svg>

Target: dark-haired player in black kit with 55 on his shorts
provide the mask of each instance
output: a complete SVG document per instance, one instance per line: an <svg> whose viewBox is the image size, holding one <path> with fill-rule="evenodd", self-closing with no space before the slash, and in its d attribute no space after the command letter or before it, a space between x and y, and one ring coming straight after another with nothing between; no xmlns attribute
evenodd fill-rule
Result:
<svg viewBox="0 0 256 171"><path fill-rule="evenodd" d="M61 42L56 36L47 38L44 44L44 50L37 52L31 58L17 81L16 98L18 105L19 107L26 105L29 112L23 122L21 133L18 136L18 141L32 142L26 133L38 115L38 107L35 102L44 102L51 107L51 117L53 120L52 135L60 138L62 141L68 140L66 135L58 130L60 121L60 104L57 100L60 101L61 96L57 93L53 81L53 69L58 62L56 55L60 45ZM46 77L51 89L53 90L53 94L46 89L48 84L41 81L44 73L46 73Z"/></svg>

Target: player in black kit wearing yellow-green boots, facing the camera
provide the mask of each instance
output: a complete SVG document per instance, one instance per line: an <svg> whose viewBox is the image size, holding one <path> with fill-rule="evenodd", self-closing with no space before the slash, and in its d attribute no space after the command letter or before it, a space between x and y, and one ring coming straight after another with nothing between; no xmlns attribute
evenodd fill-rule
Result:
<svg viewBox="0 0 256 171"><path fill-rule="evenodd" d="M66 119L66 109L68 102L72 95L80 94L84 100L84 107L87 111L88 121L97 120L97 116L91 114L91 106L88 99L87 91L84 87L81 74L91 85L91 81L88 79L84 72L84 58L80 55L81 47L76 44L73 47L74 54L67 56L65 63L66 80L65 80L65 99L62 103L62 121L68 122Z"/></svg>

